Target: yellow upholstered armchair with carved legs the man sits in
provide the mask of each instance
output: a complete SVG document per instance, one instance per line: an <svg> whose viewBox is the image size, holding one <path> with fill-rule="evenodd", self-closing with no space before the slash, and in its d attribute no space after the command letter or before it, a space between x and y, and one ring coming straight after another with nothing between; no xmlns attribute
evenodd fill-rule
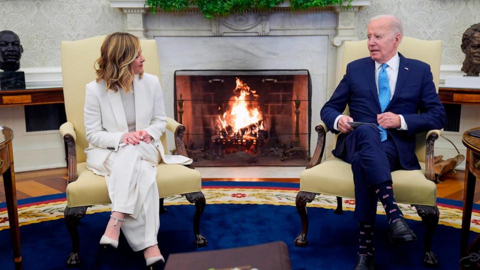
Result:
<svg viewBox="0 0 480 270"><path fill-rule="evenodd" d="M438 92L441 41L427 41L405 36L398 51L407 58L418 59L430 65ZM340 70L343 76L347 63L369 55L366 40L346 41L341 55ZM319 123L315 130L318 132L316 148L306 169L300 175L300 191L296 196L296 208L302 224L301 233L295 238L296 246L307 244L306 203L311 202L315 195L324 193L337 196L335 213L342 211L341 197L354 198L353 173L350 164L333 156L321 161L328 128L324 123ZM435 205L436 186L433 172L433 143L439 135L440 130L430 130L416 135L416 155L421 169L396 170L391 173L396 201L415 206L425 225L423 263L428 266L437 264L436 255L431 251L431 242L439 216L438 208ZM336 135L333 138L333 147L335 142Z"/></svg>

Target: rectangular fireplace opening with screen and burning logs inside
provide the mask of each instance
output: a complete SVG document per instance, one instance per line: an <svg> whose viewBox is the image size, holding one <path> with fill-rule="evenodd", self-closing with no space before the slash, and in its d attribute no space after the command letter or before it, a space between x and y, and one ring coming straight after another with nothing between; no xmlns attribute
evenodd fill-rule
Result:
<svg viewBox="0 0 480 270"><path fill-rule="evenodd" d="M195 166L307 164L307 70L177 70L174 83Z"/></svg>

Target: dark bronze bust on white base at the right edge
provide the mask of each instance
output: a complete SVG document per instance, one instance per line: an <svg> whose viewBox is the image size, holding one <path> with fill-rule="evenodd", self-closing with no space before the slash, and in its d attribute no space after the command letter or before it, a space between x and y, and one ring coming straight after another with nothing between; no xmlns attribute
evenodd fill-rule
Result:
<svg viewBox="0 0 480 270"><path fill-rule="evenodd" d="M480 23L468 27L461 37L461 51L465 60L461 71L467 76L478 76L480 72Z"/></svg>

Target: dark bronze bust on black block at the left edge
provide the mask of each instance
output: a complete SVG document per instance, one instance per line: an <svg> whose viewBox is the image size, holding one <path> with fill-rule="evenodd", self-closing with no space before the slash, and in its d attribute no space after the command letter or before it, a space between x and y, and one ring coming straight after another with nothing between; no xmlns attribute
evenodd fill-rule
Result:
<svg viewBox="0 0 480 270"><path fill-rule="evenodd" d="M0 31L0 69L15 71L20 68L23 47L18 35L9 30Z"/></svg>

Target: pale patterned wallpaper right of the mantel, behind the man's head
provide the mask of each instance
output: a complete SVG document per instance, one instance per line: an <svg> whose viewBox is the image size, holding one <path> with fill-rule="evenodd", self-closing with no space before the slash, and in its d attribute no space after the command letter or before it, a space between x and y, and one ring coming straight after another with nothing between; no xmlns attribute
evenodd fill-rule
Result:
<svg viewBox="0 0 480 270"><path fill-rule="evenodd" d="M368 20L379 14L394 14L403 23L404 35L441 39L441 64L462 64L461 35L480 22L479 0L371 0L359 12L357 35L366 38Z"/></svg>

